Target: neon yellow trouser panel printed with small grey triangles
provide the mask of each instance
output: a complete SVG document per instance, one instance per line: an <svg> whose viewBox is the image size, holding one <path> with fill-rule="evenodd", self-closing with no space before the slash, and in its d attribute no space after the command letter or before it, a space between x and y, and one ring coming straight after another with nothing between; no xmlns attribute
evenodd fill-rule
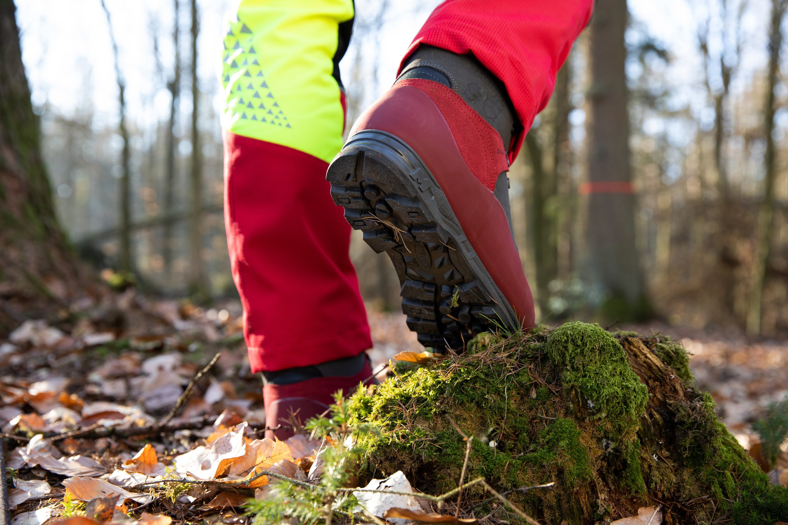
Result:
<svg viewBox="0 0 788 525"><path fill-rule="evenodd" d="M352 0L242 0L222 54L222 127L330 162L344 109L332 76Z"/></svg>

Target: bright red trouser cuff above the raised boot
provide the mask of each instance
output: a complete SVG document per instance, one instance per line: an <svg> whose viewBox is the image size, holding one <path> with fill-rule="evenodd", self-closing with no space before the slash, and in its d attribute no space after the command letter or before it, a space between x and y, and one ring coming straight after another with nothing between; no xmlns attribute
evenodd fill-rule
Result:
<svg viewBox="0 0 788 525"><path fill-rule="evenodd" d="M593 0L447 0L429 15L403 61L419 44L473 53L504 83L524 128L513 161L592 8Z"/></svg>

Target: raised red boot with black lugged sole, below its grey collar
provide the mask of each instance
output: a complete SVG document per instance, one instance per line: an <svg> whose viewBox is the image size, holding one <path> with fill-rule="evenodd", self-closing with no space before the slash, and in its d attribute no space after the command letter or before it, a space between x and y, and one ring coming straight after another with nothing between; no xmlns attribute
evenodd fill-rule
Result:
<svg viewBox="0 0 788 525"><path fill-rule="evenodd" d="M413 76L359 117L329 166L334 202L388 253L424 346L463 349L497 324L533 326L508 201L493 193L506 171L499 132L452 88Z"/></svg>

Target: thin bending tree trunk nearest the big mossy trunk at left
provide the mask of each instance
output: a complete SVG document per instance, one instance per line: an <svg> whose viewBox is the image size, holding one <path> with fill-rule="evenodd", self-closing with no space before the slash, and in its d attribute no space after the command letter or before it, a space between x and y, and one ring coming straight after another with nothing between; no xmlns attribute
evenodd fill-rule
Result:
<svg viewBox="0 0 788 525"><path fill-rule="evenodd" d="M118 245L120 256L118 258L118 267L124 272L132 271L132 236L129 225L132 223L132 184L131 184L131 169L129 168L129 158L131 153L128 145L128 128L126 127L126 81L121 73L121 63L117 53L117 40L115 39L115 31L112 28L112 17L110 17L110 9L106 8L106 2L102 0L102 9L106 15L106 25L110 31L110 42L112 43L112 54L115 60L115 79L117 81L117 100L118 100L118 113L120 114L120 122L117 125L118 131L121 133L123 139L123 150L121 151L121 180L118 194L118 209L120 217L118 218L119 231L118 231Z"/></svg>

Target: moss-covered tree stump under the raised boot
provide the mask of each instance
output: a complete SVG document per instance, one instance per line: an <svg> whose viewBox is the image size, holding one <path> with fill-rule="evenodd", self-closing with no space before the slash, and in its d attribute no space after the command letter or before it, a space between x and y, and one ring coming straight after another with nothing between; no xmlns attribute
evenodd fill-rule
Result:
<svg viewBox="0 0 788 525"><path fill-rule="evenodd" d="M609 523L660 503L668 524L788 520L788 491L719 423L688 364L670 338L596 324L480 335L459 357L351 398L354 417L381 429L361 474L403 470L419 490L455 488L466 444L448 415L474 436L467 479L500 490L556 482L510 496L548 523ZM466 509L486 496L468 497Z"/></svg>

